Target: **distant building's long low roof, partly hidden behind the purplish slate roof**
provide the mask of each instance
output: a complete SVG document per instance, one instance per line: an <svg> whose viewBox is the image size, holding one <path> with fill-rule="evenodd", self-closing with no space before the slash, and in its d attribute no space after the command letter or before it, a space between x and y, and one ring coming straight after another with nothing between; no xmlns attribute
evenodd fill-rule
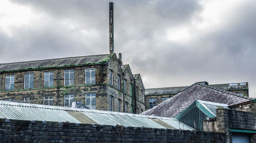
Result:
<svg viewBox="0 0 256 143"><path fill-rule="evenodd" d="M237 85L236 85L237 84ZM248 90L248 83L224 83L224 84L210 84L210 87L215 87L218 89L231 91L231 90ZM153 88L153 89L145 89L145 96L150 95L164 95L164 94L177 94L183 91L186 87L169 87L169 88Z"/></svg>

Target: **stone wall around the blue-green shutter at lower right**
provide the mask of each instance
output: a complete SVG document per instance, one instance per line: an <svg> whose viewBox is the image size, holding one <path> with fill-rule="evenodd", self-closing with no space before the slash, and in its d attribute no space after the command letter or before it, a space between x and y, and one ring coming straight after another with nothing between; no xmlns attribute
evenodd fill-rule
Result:
<svg viewBox="0 0 256 143"><path fill-rule="evenodd" d="M241 131L247 130L251 132L251 143L255 143L256 134L256 114L253 112L245 112L231 109L216 109L217 117L212 120L204 121L204 131L218 131L227 134L227 142L232 142L232 132L230 129Z"/></svg>

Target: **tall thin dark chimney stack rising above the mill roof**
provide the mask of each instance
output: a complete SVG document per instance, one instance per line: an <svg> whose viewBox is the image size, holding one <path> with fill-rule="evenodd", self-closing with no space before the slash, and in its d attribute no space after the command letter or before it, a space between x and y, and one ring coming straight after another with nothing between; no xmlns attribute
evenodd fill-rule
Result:
<svg viewBox="0 0 256 143"><path fill-rule="evenodd" d="M114 53L114 3L110 3L110 53Z"/></svg>

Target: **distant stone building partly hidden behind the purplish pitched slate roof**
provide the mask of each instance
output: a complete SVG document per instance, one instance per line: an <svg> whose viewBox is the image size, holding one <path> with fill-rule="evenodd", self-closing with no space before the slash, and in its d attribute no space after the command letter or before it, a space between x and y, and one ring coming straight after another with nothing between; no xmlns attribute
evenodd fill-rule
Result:
<svg viewBox="0 0 256 143"><path fill-rule="evenodd" d="M199 83L208 85L208 82L206 81L199 82ZM249 97L248 82L210 84L209 86ZM174 95L182 92L187 88L188 87L169 87L169 88L145 89L146 110L160 104L161 102L173 97Z"/></svg>

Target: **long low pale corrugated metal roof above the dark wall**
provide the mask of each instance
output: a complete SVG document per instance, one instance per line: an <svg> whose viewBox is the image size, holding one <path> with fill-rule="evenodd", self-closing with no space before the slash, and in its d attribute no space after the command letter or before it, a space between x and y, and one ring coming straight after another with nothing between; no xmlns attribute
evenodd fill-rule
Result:
<svg viewBox="0 0 256 143"><path fill-rule="evenodd" d="M18 103L1 100L0 118L48 122L68 121L70 123L193 130L193 128L173 118L135 115L131 113L111 112L102 110Z"/></svg>

